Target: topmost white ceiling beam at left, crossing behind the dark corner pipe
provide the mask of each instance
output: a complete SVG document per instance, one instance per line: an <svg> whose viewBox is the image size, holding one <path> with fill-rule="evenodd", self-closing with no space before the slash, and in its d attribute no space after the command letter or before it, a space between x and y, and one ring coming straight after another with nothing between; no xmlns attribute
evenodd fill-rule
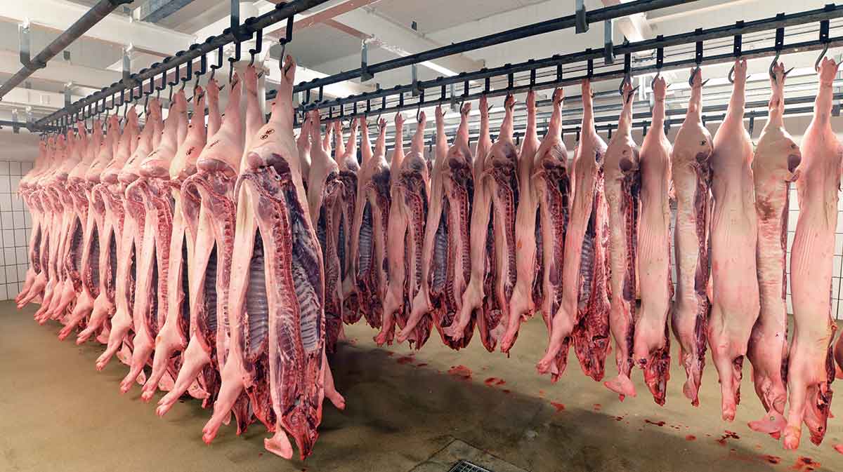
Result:
<svg viewBox="0 0 843 472"><path fill-rule="evenodd" d="M0 21L17 24L29 22L62 33L88 10L83 5L62 0L0 2ZM83 38L114 45L132 44L136 50L156 56L169 56L176 50L186 50L195 42L192 34L179 33L115 13L94 25L83 34Z"/></svg>

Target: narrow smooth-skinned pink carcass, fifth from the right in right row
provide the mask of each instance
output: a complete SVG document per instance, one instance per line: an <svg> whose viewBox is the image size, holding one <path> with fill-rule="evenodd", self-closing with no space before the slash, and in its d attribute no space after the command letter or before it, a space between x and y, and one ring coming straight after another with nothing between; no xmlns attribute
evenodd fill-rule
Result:
<svg viewBox="0 0 843 472"><path fill-rule="evenodd" d="M641 146L641 221L638 231L638 281L641 311L635 321L632 353L658 405L664 405L670 379L668 316L674 298L670 273L670 142L664 135L663 77L652 82L652 128ZM635 300L633 300L634 303Z"/></svg>

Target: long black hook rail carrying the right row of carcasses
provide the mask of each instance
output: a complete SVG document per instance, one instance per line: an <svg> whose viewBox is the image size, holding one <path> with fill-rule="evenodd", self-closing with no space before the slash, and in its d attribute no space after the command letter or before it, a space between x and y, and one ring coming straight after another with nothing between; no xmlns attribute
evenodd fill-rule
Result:
<svg viewBox="0 0 843 472"><path fill-rule="evenodd" d="M299 105L299 111L306 112L314 109L327 111L325 119L351 119L358 116L371 116L384 113L393 113L406 109L418 109L443 103L460 103L463 101L475 100L486 95L487 97L500 97L510 93L524 93L530 89L541 90L556 88L565 85L572 85L588 78L593 82L621 79L631 75L651 74L666 72L702 64L718 64L734 61L738 57L753 59L759 57L775 56L776 54L788 54L809 50L828 50L830 47L843 45L843 36L830 37L830 19L843 18L843 6L833 3L824 8L804 11L801 13L779 13L775 17L759 19L754 21L738 21L735 24L710 29L695 29L690 33L673 34L661 36L652 40L642 40L623 45L615 45L614 51L618 56L623 56L624 61L619 66L612 67L606 72L595 72L595 60L604 58L604 48L592 49L551 56L540 60L530 60L518 64L507 64L505 66L484 68L480 71L461 73L454 77L438 77L429 81L399 85L395 88L378 89L374 92L352 95L346 98L333 100L311 100L308 91L304 93L303 102ZM776 41L775 45L769 47L756 47L751 50L744 50L742 38L744 34L759 33L775 30L776 36L783 39L779 31L787 27L800 24L819 23L819 38L792 44L784 44ZM733 38L733 48L730 53L705 54L705 41ZM695 45L695 50L690 57L674 61L664 61L664 50L668 47L679 45ZM656 54L645 64L633 66L631 55L642 51L656 51ZM639 62L639 61L636 61ZM566 73L562 77L564 65L578 64L584 73L576 75ZM555 69L555 74L553 73ZM550 71L550 80L539 82L539 72ZM516 84L515 74L529 73L528 83ZM544 74L542 74L544 75ZM505 81L504 88L491 88L491 81ZM309 83L309 82L308 82ZM484 84L475 86L474 84ZM416 97L413 93L416 92ZM321 111L320 111L321 113Z"/></svg>

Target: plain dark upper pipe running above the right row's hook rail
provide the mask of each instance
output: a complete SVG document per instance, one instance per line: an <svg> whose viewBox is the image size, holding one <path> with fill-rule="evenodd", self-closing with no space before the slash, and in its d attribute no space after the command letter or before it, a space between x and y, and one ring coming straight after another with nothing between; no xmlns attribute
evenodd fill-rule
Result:
<svg viewBox="0 0 843 472"><path fill-rule="evenodd" d="M460 41L450 45L444 45L432 50L426 50L409 56L401 56L389 61L378 62L377 64L366 64L362 62L361 66L351 71L340 72L338 74L315 78L309 82L301 82L293 88L293 92L304 92L307 90L324 88L326 85L332 83L343 82L346 80L353 80L357 78L368 79L379 72L391 71L399 69L400 67L412 66L420 64L425 61L434 61L446 56L453 56L454 54L461 54L470 50L478 50L493 45L501 45L514 40L523 40L538 34L551 33L561 29L577 28L577 33L580 28L588 29L588 24L604 22L611 19L618 19L636 13L646 13L659 8L674 7L676 5L684 5L693 3L696 0L638 0L636 2L620 3L606 8L599 8L588 12L583 7L577 9L577 13L563 16L557 19L549 19L536 24L528 24L518 28L507 29L494 34L486 34L480 38L473 40ZM610 28L610 26L609 26ZM319 97L322 93L319 92Z"/></svg>

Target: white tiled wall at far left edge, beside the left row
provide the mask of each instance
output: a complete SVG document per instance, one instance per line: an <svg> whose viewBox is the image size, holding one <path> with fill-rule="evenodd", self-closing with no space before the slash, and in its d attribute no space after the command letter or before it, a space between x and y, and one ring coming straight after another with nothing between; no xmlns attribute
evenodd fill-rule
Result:
<svg viewBox="0 0 843 472"><path fill-rule="evenodd" d="M10 300L18 294L29 267L32 217L17 191L20 178L31 168L32 162L0 161L0 300Z"/></svg>

